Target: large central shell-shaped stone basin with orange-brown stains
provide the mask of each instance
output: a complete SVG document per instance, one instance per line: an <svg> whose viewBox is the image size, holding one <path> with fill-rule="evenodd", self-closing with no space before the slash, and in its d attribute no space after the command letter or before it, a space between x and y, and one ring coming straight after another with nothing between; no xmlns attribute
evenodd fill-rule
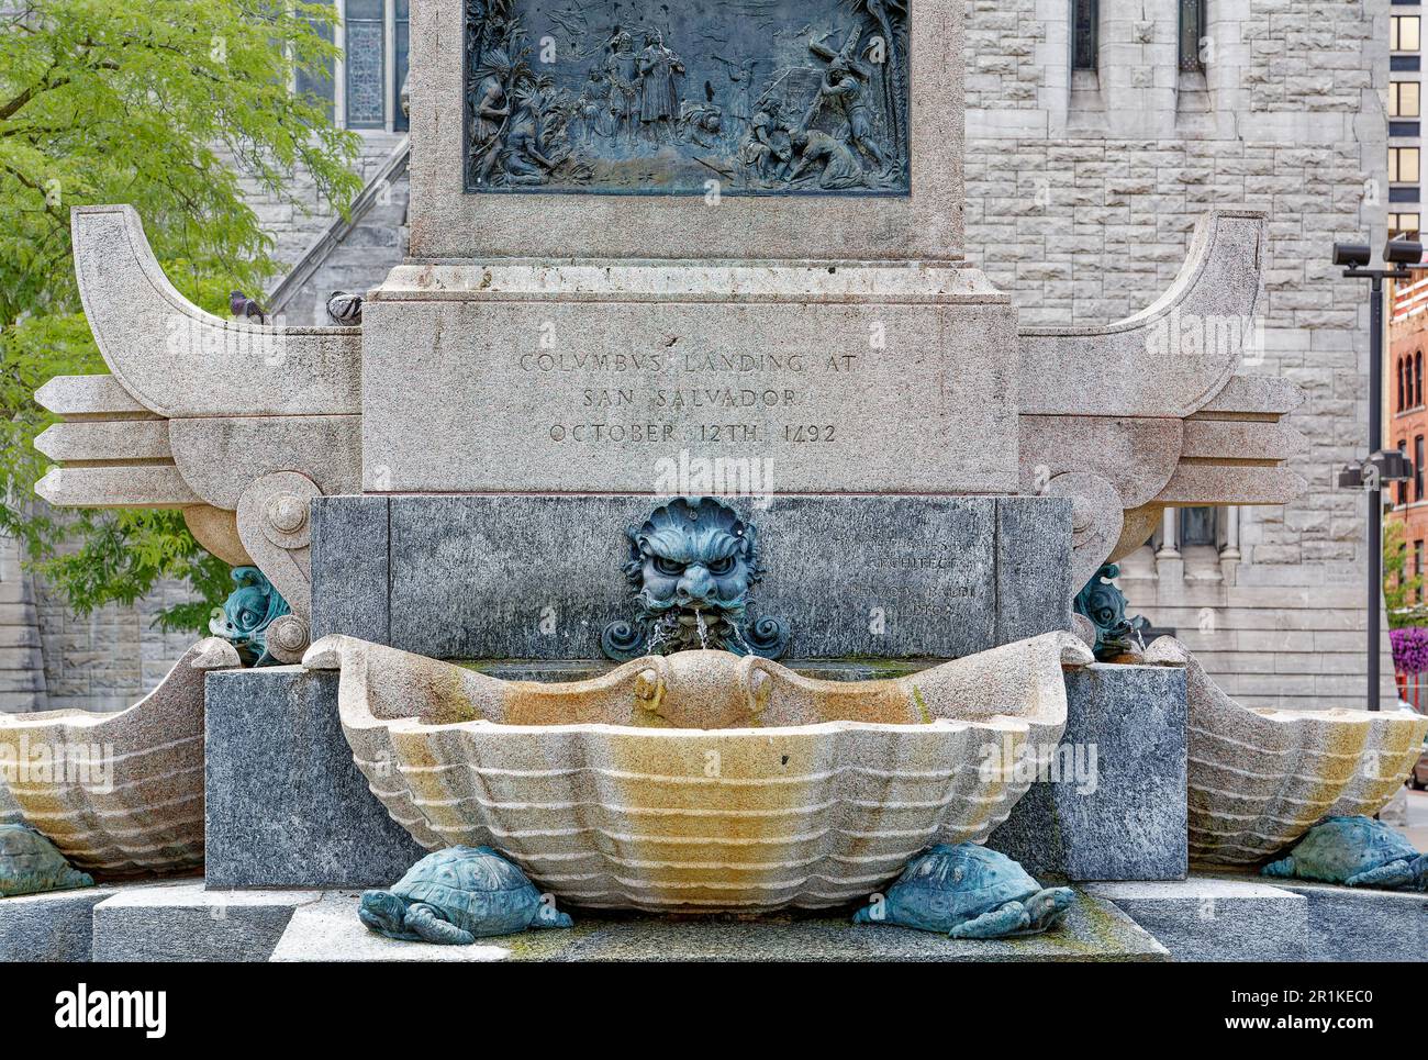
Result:
<svg viewBox="0 0 1428 1060"><path fill-rule="evenodd" d="M585 907L763 911L865 899L930 843L984 840L1018 760L1065 727L1065 633L892 680L825 681L727 651L591 680L504 681L348 637L343 731L428 849L490 844Z"/></svg>

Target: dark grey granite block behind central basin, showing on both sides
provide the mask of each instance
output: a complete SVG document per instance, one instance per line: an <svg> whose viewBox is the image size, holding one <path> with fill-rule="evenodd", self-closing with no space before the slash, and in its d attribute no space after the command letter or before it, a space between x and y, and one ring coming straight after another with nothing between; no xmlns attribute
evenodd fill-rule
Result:
<svg viewBox="0 0 1428 1060"><path fill-rule="evenodd" d="M584 676L585 666L508 663L501 670L570 680L573 667ZM887 666L813 669L865 680ZM1094 666L1068 673L1058 754L1067 771L1032 784L990 846L1048 879L1185 876L1184 671ZM287 666L210 674L206 813L210 887L386 887L427 853L387 816L353 764L333 671Z"/></svg>

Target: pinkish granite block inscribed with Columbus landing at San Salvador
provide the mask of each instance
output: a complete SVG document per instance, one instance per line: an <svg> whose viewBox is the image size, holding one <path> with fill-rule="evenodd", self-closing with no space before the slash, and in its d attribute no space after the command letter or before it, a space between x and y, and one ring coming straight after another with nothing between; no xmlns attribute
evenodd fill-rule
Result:
<svg viewBox="0 0 1428 1060"><path fill-rule="evenodd" d="M406 266L363 311L363 484L1011 493L1014 317L965 266Z"/></svg>

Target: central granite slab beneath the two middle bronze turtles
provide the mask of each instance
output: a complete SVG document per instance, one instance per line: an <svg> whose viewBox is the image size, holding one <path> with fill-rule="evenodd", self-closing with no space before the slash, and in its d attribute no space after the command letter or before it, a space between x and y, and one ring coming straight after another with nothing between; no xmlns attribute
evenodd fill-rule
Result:
<svg viewBox="0 0 1428 1060"><path fill-rule="evenodd" d="M670 920L573 910L568 931L526 931L476 946L398 943L357 920L357 893L303 906L274 961L1162 961L1165 947L1108 901L1080 894L1064 923L1027 939L961 940L847 917Z"/></svg>

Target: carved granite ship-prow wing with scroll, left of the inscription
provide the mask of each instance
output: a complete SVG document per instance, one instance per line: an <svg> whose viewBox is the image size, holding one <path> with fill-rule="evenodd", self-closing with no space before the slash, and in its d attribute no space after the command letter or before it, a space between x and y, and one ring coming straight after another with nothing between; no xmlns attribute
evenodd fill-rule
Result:
<svg viewBox="0 0 1428 1060"><path fill-rule="evenodd" d="M274 654L306 647L307 510L361 481L361 329L223 320L184 299L133 207L71 214L80 297L109 376L36 394L63 419L36 447L60 463L51 504L180 509L224 561L254 564L293 609Z"/></svg>

